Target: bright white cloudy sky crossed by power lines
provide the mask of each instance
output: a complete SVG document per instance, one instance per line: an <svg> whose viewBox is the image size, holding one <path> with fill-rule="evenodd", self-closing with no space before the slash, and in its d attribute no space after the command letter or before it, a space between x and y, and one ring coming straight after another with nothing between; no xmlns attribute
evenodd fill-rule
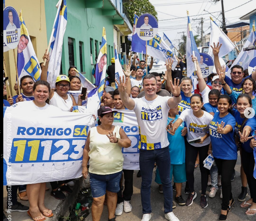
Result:
<svg viewBox="0 0 256 221"><path fill-rule="evenodd" d="M192 26L193 34L197 34L197 26L201 28L201 17L204 19L203 30L204 34L210 32L210 16L216 21L220 26L222 21L222 7L221 0L214 3L213 0L149 0L151 4L156 8L158 16L158 33L163 36L163 32L168 36L168 38L173 42L173 44L178 47L179 41L176 39L181 39L183 33L187 33L187 10L190 13L190 23ZM248 3L246 3L248 2ZM226 25L234 24L239 21L248 22L249 20L240 20L241 16L244 16L256 9L256 0L223 0L225 20ZM246 4L245 4L246 3ZM244 4L244 5L243 5ZM236 8L238 7L238 8ZM231 10L232 8L235 8ZM211 14L206 14L208 12ZM230 10L230 11L229 11ZM149 12L150 13L150 12ZM185 18L180 18L185 17ZM218 21L217 19L220 21ZM165 20L171 19L171 20ZM165 21L161 21L165 20ZM200 30L199 30L200 31ZM201 32L199 32L201 36ZM200 37L199 37L200 38Z"/></svg>

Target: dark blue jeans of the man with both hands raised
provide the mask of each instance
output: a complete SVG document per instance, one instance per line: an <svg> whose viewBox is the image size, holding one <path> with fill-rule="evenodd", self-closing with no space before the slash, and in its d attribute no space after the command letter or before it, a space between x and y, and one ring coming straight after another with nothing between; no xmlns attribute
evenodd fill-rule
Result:
<svg viewBox="0 0 256 221"><path fill-rule="evenodd" d="M160 179L163 184L165 213L173 211L173 188L170 179L170 153L169 148L165 147L157 150L140 150L140 173L142 178L140 195L143 214L152 212L150 187L155 162L157 163Z"/></svg>

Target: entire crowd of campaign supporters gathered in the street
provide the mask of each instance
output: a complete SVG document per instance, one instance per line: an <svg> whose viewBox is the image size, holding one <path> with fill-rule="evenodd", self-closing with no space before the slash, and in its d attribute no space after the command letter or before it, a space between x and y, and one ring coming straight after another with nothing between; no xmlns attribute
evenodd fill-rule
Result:
<svg viewBox="0 0 256 221"><path fill-rule="evenodd" d="M154 168L155 182L159 184L159 192L164 195L164 216L169 221L179 221L173 213L173 201L181 206L193 204L197 197L194 189L194 170L197 165L201 175L200 207L208 206L207 185L212 186L209 197L215 197L220 187L222 204L219 220L227 220L235 200L231 180L238 151L242 180L238 200L241 202L240 207L248 207L247 215L256 214L256 179L253 176L256 116L245 116L246 108L256 110L256 71L244 77L243 68L234 65L229 78L225 75L225 67L219 62L221 45L214 44L212 48L217 73L212 73L208 79L203 78L197 57L187 58L197 65L198 90L194 94L191 93L192 80L182 76L186 63L181 60L178 60L174 71L173 60L166 61L164 80L157 72L149 73L151 63L147 68L145 61L140 61L137 66L136 58L132 65L126 65L125 77L119 81L115 79L115 69L108 68L111 87L105 86L98 110L98 126L91 128L83 150L82 174L84 178L90 176L93 221L100 220L104 204L107 205L109 221L115 221L116 216L123 212L132 211L134 171L123 169L121 151L122 147L131 146L131 140L121 127L115 126L114 113L118 110L134 111L139 126L141 221L151 219L150 191ZM81 79L76 76L75 67L69 68L68 76L58 76L53 90L47 82L50 57L45 54L43 59L47 62L42 66L41 80L34 82L30 76L24 76L20 80L23 92L3 100L4 106L14 104L29 107L30 110L72 111L73 106L82 105L82 95L79 95L76 103L68 93L81 90ZM153 63L152 57L151 61ZM111 63L110 66L113 66L115 59ZM7 94L7 79L3 79L4 95ZM204 167L204 160L209 155L214 158L210 170ZM186 182L186 199L182 197L183 182ZM65 180L50 182L50 185L51 196L65 200L63 192L72 194L70 186L74 182ZM247 185L251 198L246 201ZM173 188L176 190L174 197ZM29 207L17 201L17 190L21 200L29 201ZM44 205L45 190L45 183L7 186L8 193L15 197L8 200L5 211L27 211L34 221L52 217L52 211Z"/></svg>

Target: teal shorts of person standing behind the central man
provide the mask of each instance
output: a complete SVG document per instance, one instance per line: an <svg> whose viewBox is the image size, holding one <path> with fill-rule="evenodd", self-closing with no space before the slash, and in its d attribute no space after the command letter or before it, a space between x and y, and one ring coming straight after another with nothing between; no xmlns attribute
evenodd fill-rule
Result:
<svg viewBox="0 0 256 221"><path fill-rule="evenodd" d="M186 182L187 177L186 177L186 165L185 163L183 164L171 164L171 171L170 171L170 177L172 179L173 176L173 181L174 182ZM158 169L156 170L156 178L155 182L158 184L162 184L160 180L160 175L158 172Z"/></svg>

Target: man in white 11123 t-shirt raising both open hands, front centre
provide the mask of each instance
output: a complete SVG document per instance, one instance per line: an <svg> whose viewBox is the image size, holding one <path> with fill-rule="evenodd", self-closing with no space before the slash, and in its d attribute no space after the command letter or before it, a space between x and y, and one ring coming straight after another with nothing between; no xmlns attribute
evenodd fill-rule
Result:
<svg viewBox="0 0 256 221"><path fill-rule="evenodd" d="M152 173L157 163L160 179L164 190L164 208L165 218L169 221L179 221L173 214L173 190L170 179L170 154L169 142L165 130L168 111L170 108L175 108L181 102L181 88L179 80L174 85L171 82L171 91L173 97L158 96L157 79L154 75L148 74L144 77L142 84L145 91L145 96L142 98L132 99L126 93L126 82L120 78L118 89L121 100L125 107L129 110L134 110L139 125L139 146L140 149L140 173L141 182L141 204L143 221L151 219L151 204L150 204L150 186L152 182Z"/></svg>

